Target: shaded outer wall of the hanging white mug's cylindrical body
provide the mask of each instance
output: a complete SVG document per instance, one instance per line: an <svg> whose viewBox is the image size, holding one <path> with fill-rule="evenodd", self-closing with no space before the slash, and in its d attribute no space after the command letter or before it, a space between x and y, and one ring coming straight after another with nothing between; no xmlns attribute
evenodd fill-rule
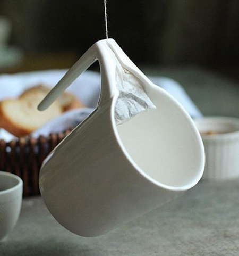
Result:
<svg viewBox="0 0 239 256"><path fill-rule="evenodd" d="M169 197L149 183L118 143L110 106L97 109L55 148L39 179L49 211L81 236L104 234L155 208L159 196Z"/></svg>

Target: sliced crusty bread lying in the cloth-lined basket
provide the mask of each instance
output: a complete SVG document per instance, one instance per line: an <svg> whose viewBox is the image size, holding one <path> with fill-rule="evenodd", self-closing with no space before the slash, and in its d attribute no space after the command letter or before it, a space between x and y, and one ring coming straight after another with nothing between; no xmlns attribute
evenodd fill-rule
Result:
<svg viewBox="0 0 239 256"><path fill-rule="evenodd" d="M0 102L0 127L16 137L21 137L32 133L67 110L84 107L73 94L64 92L48 109L38 111L38 104L50 89L44 85L37 85L25 90L16 99Z"/></svg>

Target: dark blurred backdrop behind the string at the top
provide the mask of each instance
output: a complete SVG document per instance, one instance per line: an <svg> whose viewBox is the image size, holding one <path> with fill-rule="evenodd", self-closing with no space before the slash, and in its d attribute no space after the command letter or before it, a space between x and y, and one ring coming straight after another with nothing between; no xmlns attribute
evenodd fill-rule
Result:
<svg viewBox="0 0 239 256"><path fill-rule="evenodd" d="M238 0L108 0L107 8L109 37L136 64L197 65L239 79ZM105 38L103 0L0 0L0 15L31 69L40 68L32 56L64 68Z"/></svg>

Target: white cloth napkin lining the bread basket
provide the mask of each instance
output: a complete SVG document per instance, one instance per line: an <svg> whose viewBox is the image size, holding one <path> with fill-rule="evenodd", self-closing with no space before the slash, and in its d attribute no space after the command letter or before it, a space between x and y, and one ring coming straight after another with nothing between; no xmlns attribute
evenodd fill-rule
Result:
<svg viewBox="0 0 239 256"><path fill-rule="evenodd" d="M65 75L67 70L46 70L27 73L17 73L14 75L0 76L0 101L4 98L18 97L25 89L38 84L44 84L49 87L54 87L57 82ZM176 81L164 77L149 77L151 81L167 90L174 96L178 102L194 117L200 117L202 114L186 94L185 90ZM72 85L67 88L67 91L72 92L78 97L88 108L80 110L71 110L65 112L61 117L58 117L44 127L35 131L32 135L47 136L49 133L57 133L67 129L67 127L75 126L77 123L84 120L97 107L100 93L100 73L93 71L85 71L79 76ZM11 141L13 135L0 129L0 139Z"/></svg>

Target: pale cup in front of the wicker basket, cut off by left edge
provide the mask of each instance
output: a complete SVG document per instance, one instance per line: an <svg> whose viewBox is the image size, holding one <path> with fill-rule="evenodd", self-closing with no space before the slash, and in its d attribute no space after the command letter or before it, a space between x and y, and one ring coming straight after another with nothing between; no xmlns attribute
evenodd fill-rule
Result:
<svg viewBox="0 0 239 256"><path fill-rule="evenodd" d="M0 241L6 240L18 221L22 205L22 179L0 171Z"/></svg>

